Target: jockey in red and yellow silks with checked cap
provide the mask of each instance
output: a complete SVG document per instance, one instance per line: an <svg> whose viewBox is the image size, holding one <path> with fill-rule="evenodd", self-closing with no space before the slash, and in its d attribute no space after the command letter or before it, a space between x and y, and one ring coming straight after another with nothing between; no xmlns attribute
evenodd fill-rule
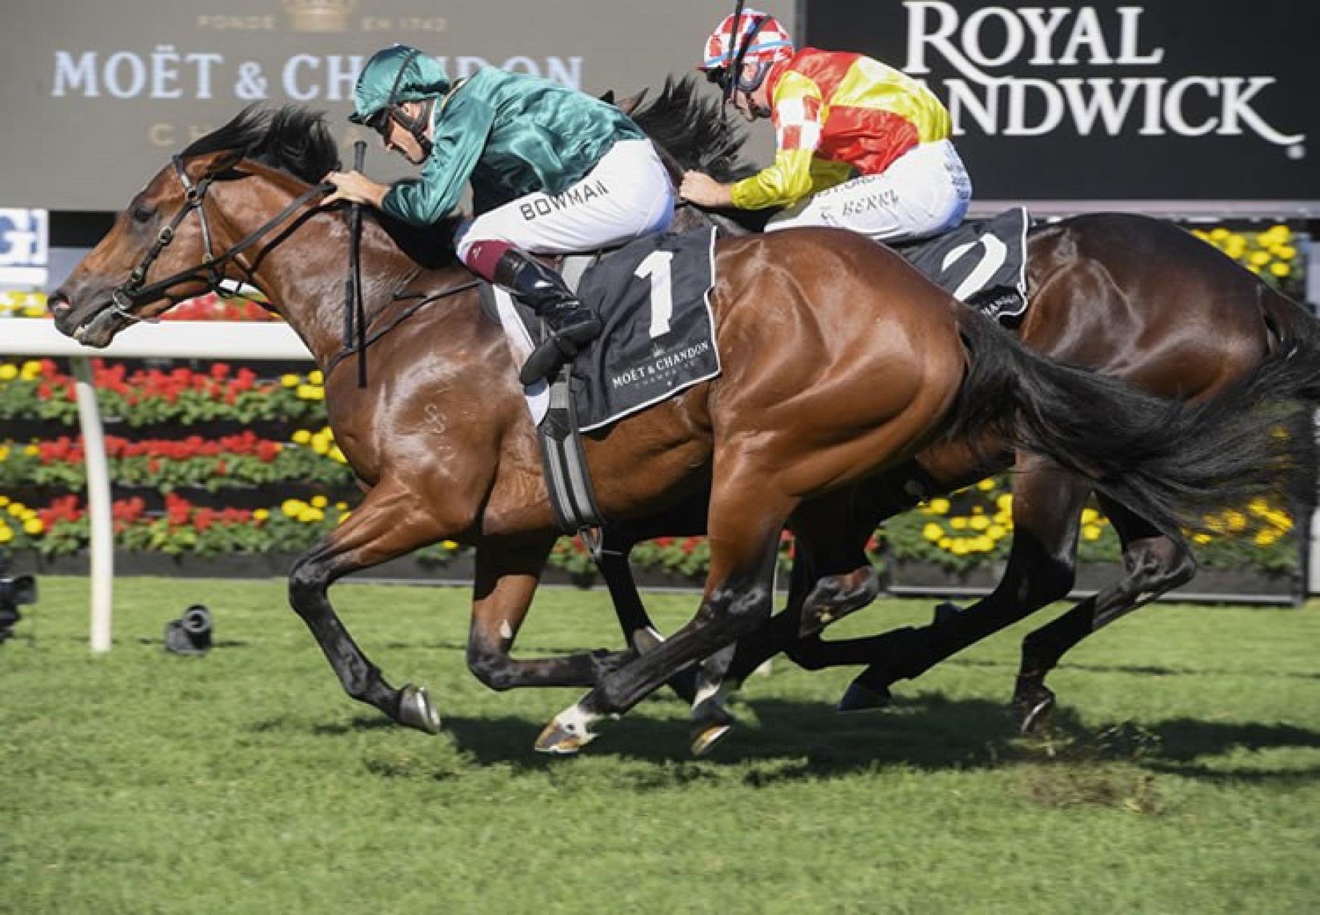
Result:
<svg viewBox="0 0 1320 915"><path fill-rule="evenodd" d="M744 11L737 29L733 20L706 42L702 69L739 111L772 119L775 162L731 185L688 173L684 198L787 207L767 230L840 226L883 242L939 235L962 220L972 182L933 92L862 54L795 51L783 26L758 11Z"/></svg>

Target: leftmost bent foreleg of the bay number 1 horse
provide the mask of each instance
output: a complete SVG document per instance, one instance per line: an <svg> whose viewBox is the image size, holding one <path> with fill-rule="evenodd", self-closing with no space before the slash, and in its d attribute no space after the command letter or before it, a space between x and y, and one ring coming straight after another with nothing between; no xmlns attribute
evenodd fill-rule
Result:
<svg viewBox="0 0 1320 915"><path fill-rule="evenodd" d="M395 689L348 635L326 594L343 576L412 552L444 536L437 522L416 510L412 492L391 483L372 489L343 524L298 557L289 573L289 603L312 630L345 692L393 721L436 733L436 714L424 689Z"/></svg>

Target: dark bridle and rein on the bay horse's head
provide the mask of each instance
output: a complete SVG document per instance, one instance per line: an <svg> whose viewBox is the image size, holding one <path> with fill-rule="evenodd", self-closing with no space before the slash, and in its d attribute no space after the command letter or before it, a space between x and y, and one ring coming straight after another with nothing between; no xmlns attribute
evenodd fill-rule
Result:
<svg viewBox="0 0 1320 915"><path fill-rule="evenodd" d="M183 166L183 158L181 156L174 156L172 161L174 164L174 173L178 176L180 184L183 185L183 205L178 209L178 213L174 214L174 218L162 226L160 232L157 232L156 240L152 242L152 246L147 250L141 263L133 268L132 273L129 273L128 283L121 287L116 287L111 293L111 312L127 321L145 323L154 322L156 318L144 318L135 314L132 309L150 305L161 298L169 298L169 290L181 283L203 280L209 292L223 293L220 284L226 279L224 267L228 263L234 261L240 254L269 235L272 230L282 224L285 219L300 210L305 203L308 203L308 201L334 189L330 184L313 185L294 198L286 207L280 210L280 213L261 224L256 231L251 232L236 244L230 246L219 255L214 255L211 224L206 218L205 203L206 191L210 189L215 176L207 174L194 184L193 180L187 177L187 169ZM180 224L182 224L193 210L197 210L198 219L202 223L202 244L206 247L206 254L202 255L202 263L197 267L190 267L180 271L178 273L173 273L164 280L157 280L156 283L144 285L147 281L147 271L149 271L152 264L156 263L156 259L160 257L161 252L169 247L169 243L174 240L174 235L178 231Z"/></svg>

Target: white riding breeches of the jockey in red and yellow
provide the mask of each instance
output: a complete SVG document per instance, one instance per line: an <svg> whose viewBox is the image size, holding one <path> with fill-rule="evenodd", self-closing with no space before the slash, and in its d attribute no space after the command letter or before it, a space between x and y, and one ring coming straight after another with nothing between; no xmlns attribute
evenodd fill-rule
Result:
<svg viewBox="0 0 1320 915"><path fill-rule="evenodd" d="M906 242L949 231L968 213L972 180L949 140L923 143L880 174L863 174L801 201L766 231L834 226L876 242Z"/></svg>

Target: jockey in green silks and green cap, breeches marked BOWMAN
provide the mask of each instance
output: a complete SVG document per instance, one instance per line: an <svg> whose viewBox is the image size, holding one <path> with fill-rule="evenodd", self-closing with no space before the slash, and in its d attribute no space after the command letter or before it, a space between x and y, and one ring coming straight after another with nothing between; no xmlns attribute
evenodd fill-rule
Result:
<svg viewBox="0 0 1320 915"><path fill-rule="evenodd" d="M331 172L327 203L370 203L428 226L447 217L471 182L477 215L455 236L459 260L552 330L523 366L524 384L556 372L601 333L595 313L531 255L631 242L664 231L673 217L673 185L642 129L548 79L483 67L451 82L434 58L393 45L359 74L348 120L375 129L421 177L381 185Z"/></svg>

